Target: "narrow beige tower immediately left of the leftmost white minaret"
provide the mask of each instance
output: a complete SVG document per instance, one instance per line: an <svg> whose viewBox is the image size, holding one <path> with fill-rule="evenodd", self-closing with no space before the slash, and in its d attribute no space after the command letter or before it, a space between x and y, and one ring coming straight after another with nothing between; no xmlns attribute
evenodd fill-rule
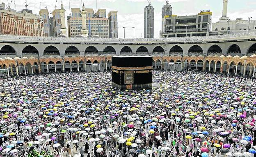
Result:
<svg viewBox="0 0 256 157"><path fill-rule="evenodd" d="M61 34L61 17L59 9L53 11L53 36Z"/></svg>

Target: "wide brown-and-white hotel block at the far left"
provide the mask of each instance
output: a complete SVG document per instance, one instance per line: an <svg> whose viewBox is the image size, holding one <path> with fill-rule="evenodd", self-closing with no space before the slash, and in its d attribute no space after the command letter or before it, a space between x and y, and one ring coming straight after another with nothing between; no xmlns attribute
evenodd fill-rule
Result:
<svg viewBox="0 0 256 157"><path fill-rule="evenodd" d="M43 17L31 13L0 10L0 33L11 35L44 36Z"/></svg>

